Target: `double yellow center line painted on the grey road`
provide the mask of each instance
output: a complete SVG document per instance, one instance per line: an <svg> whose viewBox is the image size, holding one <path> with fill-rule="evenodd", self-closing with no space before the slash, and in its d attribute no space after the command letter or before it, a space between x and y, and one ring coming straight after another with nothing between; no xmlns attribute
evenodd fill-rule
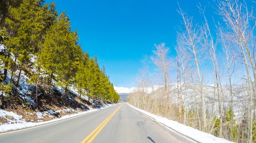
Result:
<svg viewBox="0 0 256 143"><path fill-rule="evenodd" d="M121 104L117 110L115 110L110 116L108 116L107 119L105 119L94 131L92 131L92 133L89 134L89 136L87 136L83 141L81 141L81 143L85 143L88 139L88 141L86 143L91 143L92 140L99 134L99 132L102 130L102 128L104 128L104 126L108 123L108 121L115 115L115 113L119 110L119 108L121 108L123 104ZM95 134L94 134L95 133Z"/></svg>

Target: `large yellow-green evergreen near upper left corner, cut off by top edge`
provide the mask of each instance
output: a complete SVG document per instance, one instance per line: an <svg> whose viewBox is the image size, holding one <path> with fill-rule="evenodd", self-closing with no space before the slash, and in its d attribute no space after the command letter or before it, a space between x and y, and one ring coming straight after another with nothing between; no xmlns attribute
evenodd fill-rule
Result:
<svg viewBox="0 0 256 143"><path fill-rule="evenodd" d="M23 0L20 7L11 7L9 17L6 18L7 31L10 36L10 51L19 63L19 75L29 65L29 58L40 44L40 32L43 28L42 2L40 0Z"/></svg>

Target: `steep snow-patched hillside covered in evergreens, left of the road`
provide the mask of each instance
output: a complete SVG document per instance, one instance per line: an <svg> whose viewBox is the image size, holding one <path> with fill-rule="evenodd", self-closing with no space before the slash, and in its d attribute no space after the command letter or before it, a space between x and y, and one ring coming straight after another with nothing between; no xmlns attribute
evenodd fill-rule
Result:
<svg viewBox="0 0 256 143"><path fill-rule="evenodd" d="M47 102L72 106L70 98L77 97L77 102L88 104L119 101L97 56L90 58L82 51L78 31L71 30L65 11L58 13L55 8L44 0L0 1L1 108L14 103L28 108L35 102L29 109L43 111ZM21 83L22 77L27 78ZM24 82L29 83L25 93L21 92ZM75 88L77 97L70 88Z"/></svg>

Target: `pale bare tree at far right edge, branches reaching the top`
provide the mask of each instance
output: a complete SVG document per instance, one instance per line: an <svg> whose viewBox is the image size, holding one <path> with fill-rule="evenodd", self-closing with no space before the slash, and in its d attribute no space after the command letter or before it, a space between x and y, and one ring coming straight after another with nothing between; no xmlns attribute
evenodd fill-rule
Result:
<svg viewBox="0 0 256 143"><path fill-rule="evenodd" d="M256 81L256 69L254 63L254 51L251 44L252 38L254 38L255 19L253 12L249 12L245 1L239 2L238 0L225 0L218 2L218 13L222 16L223 21L226 23L227 28L231 29L229 37L231 41L237 43L237 47L243 57L245 64L247 80L249 89L252 88L253 93L256 89L256 84L252 83L250 71L252 71L252 77ZM255 41L254 41L255 42ZM252 87L253 86L253 87ZM254 95L255 96L255 95ZM249 129L248 129L248 143L252 143L252 93L249 92Z"/></svg>

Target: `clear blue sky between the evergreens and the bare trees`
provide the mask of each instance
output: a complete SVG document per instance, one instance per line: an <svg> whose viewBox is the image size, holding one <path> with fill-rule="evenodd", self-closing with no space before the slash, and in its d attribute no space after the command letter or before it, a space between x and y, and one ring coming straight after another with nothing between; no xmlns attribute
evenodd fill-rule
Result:
<svg viewBox="0 0 256 143"><path fill-rule="evenodd" d="M97 55L117 87L137 83L144 56L152 55L154 44L166 43L175 57L176 30L181 8L200 15L197 4L207 0L45 0L55 2L58 13L66 11L72 30L79 32L79 43L90 57ZM212 2L212 0L209 0ZM209 6L208 6L209 7Z"/></svg>

